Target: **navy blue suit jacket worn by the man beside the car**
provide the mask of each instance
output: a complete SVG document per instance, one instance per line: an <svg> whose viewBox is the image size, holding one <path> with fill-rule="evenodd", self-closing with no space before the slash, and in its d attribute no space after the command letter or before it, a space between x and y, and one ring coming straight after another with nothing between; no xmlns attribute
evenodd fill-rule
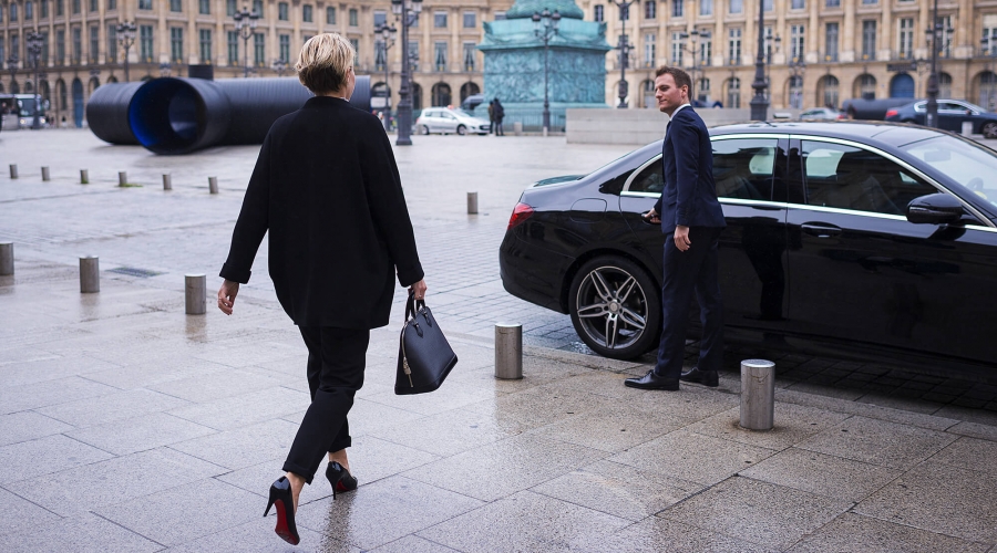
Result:
<svg viewBox="0 0 997 553"><path fill-rule="evenodd" d="M661 163L665 190L655 205L661 231L675 227L727 227L713 182L710 133L692 106L682 107L668 124Z"/></svg>

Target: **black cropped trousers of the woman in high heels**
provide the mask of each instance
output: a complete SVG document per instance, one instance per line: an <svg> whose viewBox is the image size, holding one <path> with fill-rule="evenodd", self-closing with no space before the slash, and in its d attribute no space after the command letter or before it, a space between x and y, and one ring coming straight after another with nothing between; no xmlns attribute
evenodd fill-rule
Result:
<svg viewBox="0 0 997 553"><path fill-rule="evenodd" d="M330 326L299 330L308 346L311 405L305 411L284 470L311 483L327 452L352 444L347 414L353 406L353 395L363 386L370 331Z"/></svg>

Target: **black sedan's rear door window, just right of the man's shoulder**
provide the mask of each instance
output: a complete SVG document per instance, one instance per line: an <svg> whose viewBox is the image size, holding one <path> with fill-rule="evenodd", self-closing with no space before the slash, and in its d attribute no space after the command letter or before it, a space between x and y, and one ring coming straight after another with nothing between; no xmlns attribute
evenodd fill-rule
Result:
<svg viewBox="0 0 997 553"><path fill-rule="evenodd" d="M777 138L713 140L717 196L771 200L778 142Z"/></svg>

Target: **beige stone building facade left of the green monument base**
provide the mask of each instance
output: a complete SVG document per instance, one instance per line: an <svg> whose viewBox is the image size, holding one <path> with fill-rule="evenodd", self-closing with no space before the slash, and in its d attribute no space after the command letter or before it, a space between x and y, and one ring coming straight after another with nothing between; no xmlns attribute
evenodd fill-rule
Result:
<svg viewBox="0 0 997 553"><path fill-rule="evenodd" d="M233 18L244 6L263 14L248 38L238 34ZM483 58L475 46L482 22L502 18L511 6L512 0L423 2L409 36L417 108L458 104L481 91ZM392 103L398 98L401 44L389 41L386 50L376 32L386 22L400 30L390 0L9 0L0 2L0 61L7 70L0 92L33 91L24 38L38 30L44 36L39 91L51 102L52 121L70 125L82 124L96 87L124 81L122 21L136 27L127 53L131 81L186 76L194 64L212 65L216 79L241 77L247 65L250 77L294 74L305 41L335 31L357 49L357 73L370 74L376 91L387 82Z"/></svg>

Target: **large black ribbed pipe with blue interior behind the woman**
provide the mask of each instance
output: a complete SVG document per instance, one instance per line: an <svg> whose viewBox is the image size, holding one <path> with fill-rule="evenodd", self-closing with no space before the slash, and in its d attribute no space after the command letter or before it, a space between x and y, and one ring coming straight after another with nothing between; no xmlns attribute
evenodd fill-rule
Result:
<svg viewBox="0 0 997 553"><path fill-rule="evenodd" d="M309 97L297 77L163 77L97 88L86 118L102 140L179 155L209 146L261 144L278 117L299 109ZM357 77L350 103L370 111L370 76Z"/></svg>

